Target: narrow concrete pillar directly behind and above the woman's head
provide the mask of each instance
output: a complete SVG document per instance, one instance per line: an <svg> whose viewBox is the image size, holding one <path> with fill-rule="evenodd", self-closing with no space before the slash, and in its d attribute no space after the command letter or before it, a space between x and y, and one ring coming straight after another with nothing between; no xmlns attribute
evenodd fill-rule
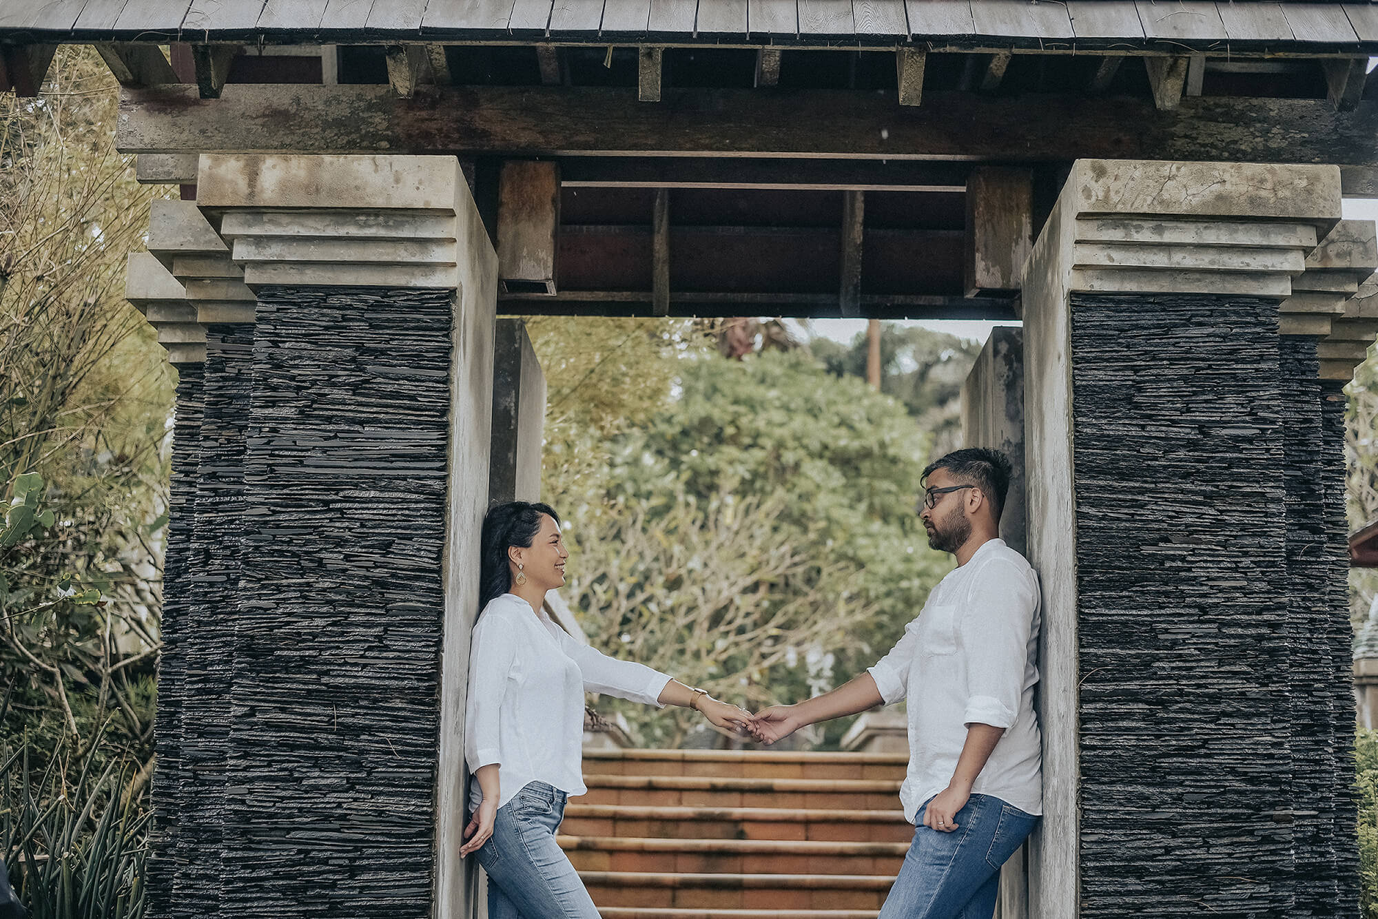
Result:
<svg viewBox="0 0 1378 919"><path fill-rule="evenodd" d="M489 503L540 500L540 449L546 430L546 375L522 320L493 331L493 456Z"/></svg>

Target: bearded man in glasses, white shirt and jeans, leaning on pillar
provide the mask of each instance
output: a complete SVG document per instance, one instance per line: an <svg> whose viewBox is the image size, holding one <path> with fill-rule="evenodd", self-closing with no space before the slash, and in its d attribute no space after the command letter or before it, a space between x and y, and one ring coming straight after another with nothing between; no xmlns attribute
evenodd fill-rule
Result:
<svg viewBox="0 0 1378 919"><path fill-rule="evenodd" d="M831 693L761 711L752 733L774 743L904 699L909 767L900 801L915 832L881 919L991 919L1000 865L1042 813L1038 577L999 539L1010 484L1003 453L948 453L921 482L929 546L952 553L956 569L875 667Z"/></svg>

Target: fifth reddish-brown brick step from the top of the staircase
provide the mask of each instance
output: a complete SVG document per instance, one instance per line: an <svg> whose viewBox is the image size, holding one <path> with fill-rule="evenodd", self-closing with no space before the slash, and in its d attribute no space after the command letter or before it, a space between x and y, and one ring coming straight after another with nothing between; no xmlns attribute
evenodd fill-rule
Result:
<svg viewBox="0 0 1378 919"><path fill-rule="evenodd" d="M599 909L879 909L893 875L752 875L582 871Z"/></svg>

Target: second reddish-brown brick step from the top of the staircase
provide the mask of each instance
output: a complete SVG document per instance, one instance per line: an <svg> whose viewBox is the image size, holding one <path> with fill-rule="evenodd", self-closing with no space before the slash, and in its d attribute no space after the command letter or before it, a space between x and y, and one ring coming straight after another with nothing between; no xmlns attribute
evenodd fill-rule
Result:
<svg viewBox="0 0 1378 919"><path fill-rule="evenodd" d="M688 807L894 807L894 778L732 778L704 776L584 776L590 805Z"/></svg>

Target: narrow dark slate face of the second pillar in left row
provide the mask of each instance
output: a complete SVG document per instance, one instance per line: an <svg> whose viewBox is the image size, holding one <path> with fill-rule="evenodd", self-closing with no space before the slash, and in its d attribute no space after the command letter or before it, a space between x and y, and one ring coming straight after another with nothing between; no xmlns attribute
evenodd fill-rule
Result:
<svg viewBox="0 0 1378 919"><path fill-rule="evenodd" d="M204 412L192 529L192 621L186 630L182 763L186 785L175 857L172 916L219 913L230 674L243 566L244 437L254 327L208 325Z"/></svg>

